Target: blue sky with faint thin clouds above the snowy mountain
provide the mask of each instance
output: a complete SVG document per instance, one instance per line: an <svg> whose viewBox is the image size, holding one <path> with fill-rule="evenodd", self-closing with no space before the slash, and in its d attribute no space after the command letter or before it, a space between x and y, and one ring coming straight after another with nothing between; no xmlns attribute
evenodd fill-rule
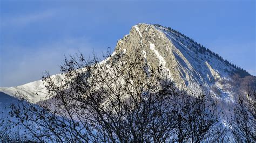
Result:
<svg viewBox="0 0 256 143"><path fill-rule="evenodd" d="M256 75L255 1L0 1L0 87L112 50L138 23L172 27Z"/></svg>

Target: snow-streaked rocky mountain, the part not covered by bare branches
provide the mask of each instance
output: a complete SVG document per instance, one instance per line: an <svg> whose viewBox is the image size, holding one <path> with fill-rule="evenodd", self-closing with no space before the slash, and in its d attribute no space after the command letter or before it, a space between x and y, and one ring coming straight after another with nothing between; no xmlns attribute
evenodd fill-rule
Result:
<svg viewBox="0 0 256 143"><path fill-rule="evenodd" d="M142 53L145 63L150 67L147 70L161 66L164 71L170 73L166 76L180 89L192 92L204 90L225 101L232 101L238 92L238 89L232 88L230 81L231 76L239 69L185 35L160 25L133 26L129 35L117 42L112 57L101 63L118 62L117 55L133 55L136 52ZM242 72L249 75L246 71ZM56 81L63 78L63 75L54 76ZM255 83L255 77L251 77ZM15 96L17 90L28 95L32 103L44 99L47 95L42 81L0 88L0 91L12 96Z"/></svg>

